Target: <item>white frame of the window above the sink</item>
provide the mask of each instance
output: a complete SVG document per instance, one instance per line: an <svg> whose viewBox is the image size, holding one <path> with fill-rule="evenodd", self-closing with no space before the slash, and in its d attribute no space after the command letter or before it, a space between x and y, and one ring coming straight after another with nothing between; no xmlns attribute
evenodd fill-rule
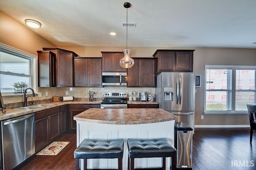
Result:
<svg viewBox="0 0 256 170"><path fill-rule="evenodd" d="M37 60L38 57L36 55L27 53L25 51L22 51L20 49L16 49L14 47L11 47L9 45L0 43L0 50L4 49L3 51L11 51L11 53L15 53L15 55L17 55L17 57L22 57L22 58L29 58L31 59L31 63L30 63L30 75L29 77L31 77L31 88L34 90L35 93L38 93L38 74L37 74ZM19 56L20 55L20 56ZM9 74L9 73L8 73ZM19 75L18 73L10 73L9 75ZM24 76L26 77L26 76ZM1 92L2 96L18 96L18 95L24 95L24 94L14 94L14 92ZM28 94L30 94L30 92L28 91Z"/></svg>

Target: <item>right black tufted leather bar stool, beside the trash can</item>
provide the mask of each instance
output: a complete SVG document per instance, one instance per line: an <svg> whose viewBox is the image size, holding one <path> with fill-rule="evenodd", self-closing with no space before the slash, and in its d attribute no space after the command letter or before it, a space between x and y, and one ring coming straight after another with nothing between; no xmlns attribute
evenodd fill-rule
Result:
<svg viewBox="0 0 256 170"><path fill-rule="evenodd" d="M166 158L172 157L172 170L176 170L177 150L166 138L127 140L128 170L134 170L134 158L162 158L162 169L166 169Z"/></svg>

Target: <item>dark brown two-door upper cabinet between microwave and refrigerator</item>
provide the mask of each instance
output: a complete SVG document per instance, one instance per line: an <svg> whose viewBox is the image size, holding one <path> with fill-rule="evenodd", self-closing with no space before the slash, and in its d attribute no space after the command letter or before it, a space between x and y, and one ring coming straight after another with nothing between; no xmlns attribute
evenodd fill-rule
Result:
<svg viewBox="0 0 256 170"><path fill-rule="evenodd" d="M127 69L127 87L156 87L154 58L134 58Z"/></svg>

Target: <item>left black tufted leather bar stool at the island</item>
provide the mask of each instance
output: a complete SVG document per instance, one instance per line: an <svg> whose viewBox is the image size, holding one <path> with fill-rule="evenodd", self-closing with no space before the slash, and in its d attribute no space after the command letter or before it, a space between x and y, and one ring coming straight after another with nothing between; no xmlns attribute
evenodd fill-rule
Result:
<svg viewBox="0 0 256 170"><path fill-rule="evenodd" d="M79 159L84 159L84 170L87 170L87 159L118 158L118 170L122 170L124 155L123 139L84 139L74 151L76 170L79 170Z"/></svg>

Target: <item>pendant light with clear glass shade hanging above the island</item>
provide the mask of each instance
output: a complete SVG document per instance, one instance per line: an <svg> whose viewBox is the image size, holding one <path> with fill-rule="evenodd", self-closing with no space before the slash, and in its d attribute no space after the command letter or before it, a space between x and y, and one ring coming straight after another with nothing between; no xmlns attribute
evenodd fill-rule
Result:
<svg viewBox="0 0 256 170"><path fill-rule="evenodd" d="M124 8L126 8L126 49L124 49L124 57L120 59L119 64L123 68L131 68L134 65L134 59L130 58L129 54L131 52L128 49L128 40L127 40L127 28L128 28L128 8L130 8L131 4L129 2L124 3Z"/></svg>

